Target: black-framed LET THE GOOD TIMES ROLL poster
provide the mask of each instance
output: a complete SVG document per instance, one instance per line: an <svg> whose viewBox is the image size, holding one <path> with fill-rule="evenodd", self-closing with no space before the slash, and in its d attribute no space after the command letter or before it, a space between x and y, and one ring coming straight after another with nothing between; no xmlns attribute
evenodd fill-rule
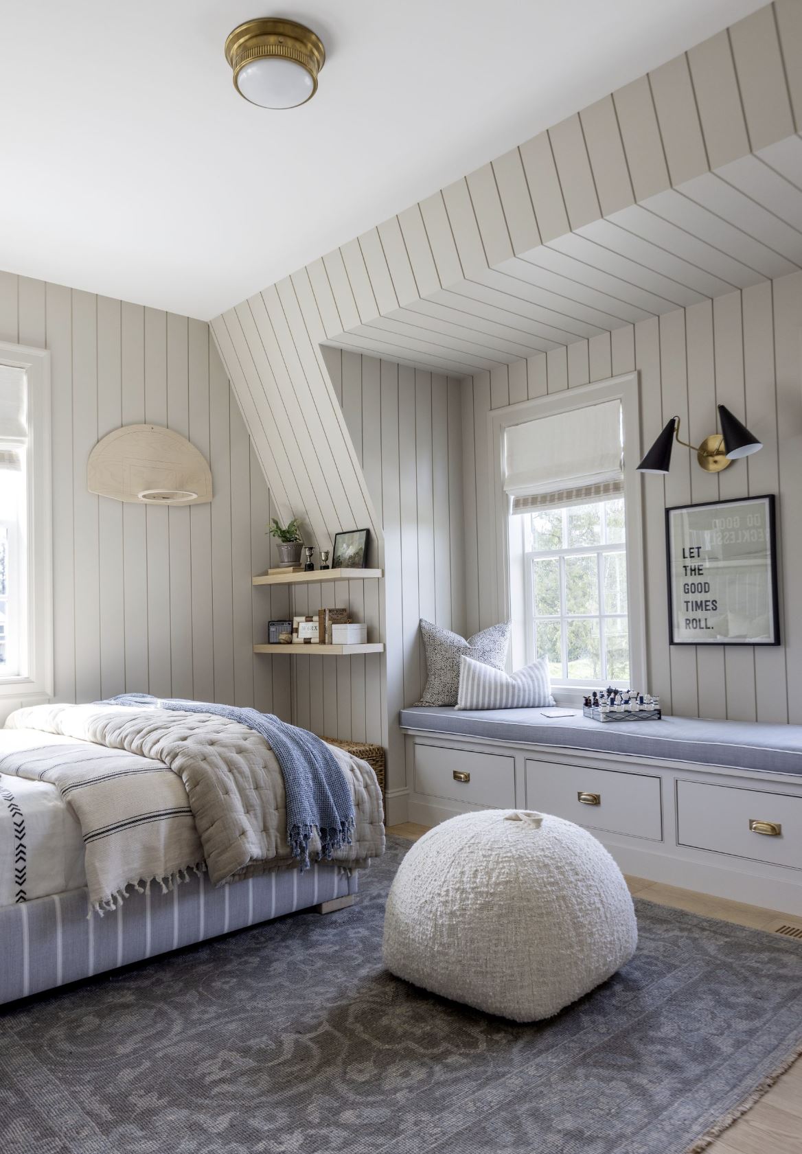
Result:
<svg viewBox="0 0 802 1154"><path fill-rule="evenodd" d="M672 645L779 645L774 497L666 509Z"/></svg>

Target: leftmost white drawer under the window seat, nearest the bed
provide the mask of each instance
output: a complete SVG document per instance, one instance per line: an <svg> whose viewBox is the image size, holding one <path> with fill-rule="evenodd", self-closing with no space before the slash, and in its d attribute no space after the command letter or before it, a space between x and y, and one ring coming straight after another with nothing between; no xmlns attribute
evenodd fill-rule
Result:
<svg viewBox="0 0 802 1154"><path fill-rule="evenodd" d="M415 793L512 809L515 758L415 742Z"/></svg>

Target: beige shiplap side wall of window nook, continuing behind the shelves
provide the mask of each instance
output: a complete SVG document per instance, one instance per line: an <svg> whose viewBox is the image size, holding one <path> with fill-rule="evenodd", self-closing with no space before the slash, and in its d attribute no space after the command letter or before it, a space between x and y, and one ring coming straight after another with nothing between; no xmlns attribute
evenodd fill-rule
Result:
<svg viewBox="0 0 802 1154"><path fill-rule="evenodd" d="M335 582L298 589L294 604L298 613L350 606L376 625L387 652L384 660L293 658L295 720L317 733L383 742L391 804L407 784L398 711L426 683L419 621L465 627L462 385L339 349L322 353L381 519L384 598L376 580Z"/></svg>

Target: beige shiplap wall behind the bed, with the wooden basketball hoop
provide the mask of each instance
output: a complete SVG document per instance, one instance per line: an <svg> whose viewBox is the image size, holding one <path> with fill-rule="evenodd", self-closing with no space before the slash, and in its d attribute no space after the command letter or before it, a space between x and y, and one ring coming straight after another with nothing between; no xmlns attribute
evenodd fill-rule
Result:
<svg viewBox="0 0 802 1154"><path fill-rule="evenodd" d="M138 690L288 717L288 662L253 653L282 609L252 585L269 563L270 496L209 325L2 272L0 339L52 358L55 698ZM137 422L201 450L211 504L88 492L95 443Z"/></svg>

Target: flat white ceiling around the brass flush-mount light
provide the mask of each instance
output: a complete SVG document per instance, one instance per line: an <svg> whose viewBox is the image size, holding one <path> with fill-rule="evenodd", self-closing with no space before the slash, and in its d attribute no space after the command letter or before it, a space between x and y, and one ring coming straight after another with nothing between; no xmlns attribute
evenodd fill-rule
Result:
<svg viewBox="0 0 802 1154"><path fill-rule="evenodd" d="M209 319L765 0L0 0L0 268ZM314 100L223 44L309 24Z"/></svg>

